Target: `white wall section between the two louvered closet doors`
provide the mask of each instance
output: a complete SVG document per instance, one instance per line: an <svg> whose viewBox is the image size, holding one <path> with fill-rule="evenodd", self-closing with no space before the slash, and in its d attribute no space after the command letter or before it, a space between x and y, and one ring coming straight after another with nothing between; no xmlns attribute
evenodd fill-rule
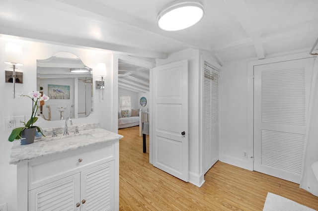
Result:
<svg viewBox="0 0 318 211"><path fill-rule="evenodd" d="M248 168L248 83L247 62L239 60L225 63L220 72L221 136L220 160ZM248 158L243 157L246 151Z"/></svg>

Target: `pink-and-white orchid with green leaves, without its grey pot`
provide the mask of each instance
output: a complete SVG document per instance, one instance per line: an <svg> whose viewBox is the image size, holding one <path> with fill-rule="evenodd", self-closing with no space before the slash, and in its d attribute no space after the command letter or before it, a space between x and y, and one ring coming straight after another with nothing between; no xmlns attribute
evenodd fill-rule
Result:
<svg viewBox="0 0 318 211"><path fill-rule="evenodd" d="M50 98L47 97L46 95L41 96L42 94L38 91L30 92L28 95L23 95L23 94L17 94L18 98L21 97L28 97L32 100L32 114L31 118L29 121L22 122L24 124L24 127L17 127L14 128L9 136L9 141L12 142L14 139L20 139L21 138L21 133L24 129L29 129L29 128L34 128L36 127L38 132L40 132L42 135L44 135L41 131L41 129L37 126L33 126L33 124L38 120L37 115L37 110L38 110L38 101L48 101Z"/></svg>

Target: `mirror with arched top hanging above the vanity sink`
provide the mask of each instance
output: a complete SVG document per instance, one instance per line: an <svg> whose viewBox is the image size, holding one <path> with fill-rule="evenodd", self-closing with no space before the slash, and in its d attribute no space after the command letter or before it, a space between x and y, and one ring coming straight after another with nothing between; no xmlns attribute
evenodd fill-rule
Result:
<svg viewBox="0 0 318 211"><path fill-rule="evenodd" d="M92 69L73 53L37 59L37 90L49 96L38 114L45 120L88 116L93 110Z"/></svg>

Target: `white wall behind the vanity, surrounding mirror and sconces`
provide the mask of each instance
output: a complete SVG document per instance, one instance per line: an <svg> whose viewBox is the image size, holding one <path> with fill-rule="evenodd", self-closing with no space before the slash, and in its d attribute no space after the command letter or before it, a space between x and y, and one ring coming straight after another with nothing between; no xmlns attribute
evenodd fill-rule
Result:
<svg viewBox="0 0 318 211"><path fill-rule="evenodd" d="M24 66L21 66L19 71L23 72L23 84L16 84L16 93L27 94L30 91L36 90L36 59L46 59L57 52L74 53L86 64L93 68L94 81L99 79L100 75L97 71L97 63L105 62L107 69L106 85L104 90L104 100L101 100L101 91L93 90L94 96L94 111L86 118L74 119L73 123L84 124L99 122L100 127L117 132L117 122L113 118L113 62L112 54L106 51L93 51L87 49L72 48L59 45L43 44L39 42L30 42L0 38L0 61L3 61L3 53L5 43L17 43L22 47ZM10 131L3 132L3 117L8 113L14 116L24 115L27 118L31 115L31 101L28 98L13 99L12 84L4 83L4 70L9 70L10 66L0 62L0 69L3 74L0 74L0 205L8 203L8 211L16 211L16 166L9 165L10 149L12 143L7 141ZM117 110L117 108L116 108ZM116 112L116 111L115 111ZM61 127L64 125L63 120L45 121L39 119L37 125L42 128ZM114 129L116 128L116 130Z"/></svg>

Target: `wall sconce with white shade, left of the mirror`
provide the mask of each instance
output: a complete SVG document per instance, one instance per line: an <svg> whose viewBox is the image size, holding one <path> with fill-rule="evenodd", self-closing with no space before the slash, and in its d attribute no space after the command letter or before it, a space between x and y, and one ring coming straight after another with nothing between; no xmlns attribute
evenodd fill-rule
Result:
<svg viewBox="0 0 318 211"><path fill-rule="evenodd" d="M12 72L12 84L13 84L13 99L15 98L15 66L23 65L22 48L14 43L7 43L4 51L4 63L11 64L13 68Z"/></svg>

